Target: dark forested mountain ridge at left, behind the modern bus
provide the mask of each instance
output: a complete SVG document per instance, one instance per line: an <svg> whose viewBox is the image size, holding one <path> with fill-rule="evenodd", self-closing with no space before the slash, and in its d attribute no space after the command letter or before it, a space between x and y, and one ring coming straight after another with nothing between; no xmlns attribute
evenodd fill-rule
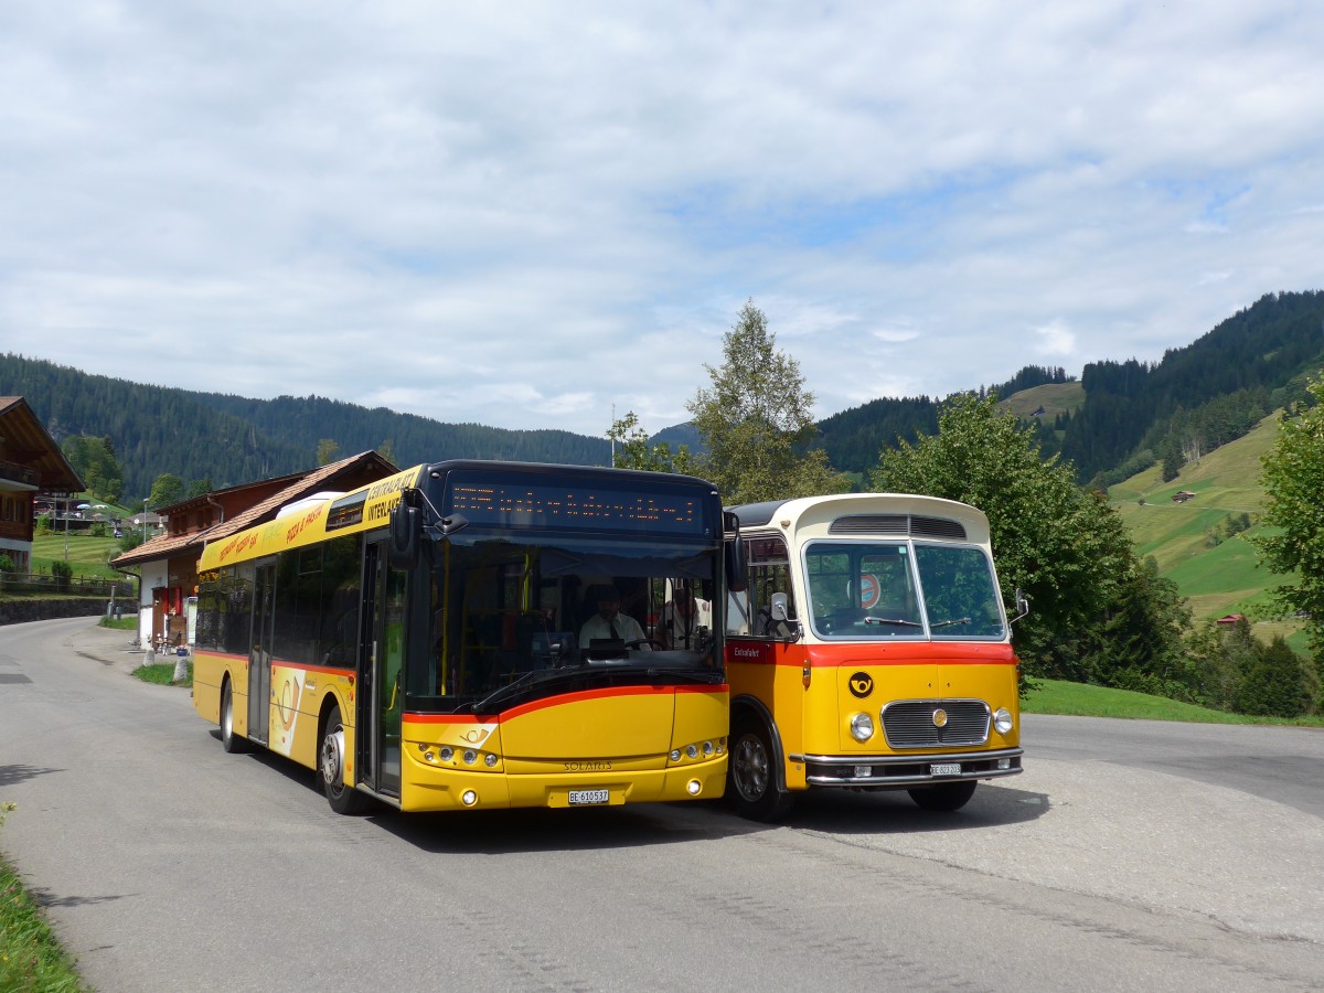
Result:
<svg viewBox="0 0 1324 993"><path fill-rule="evenodd" d="M123 470L122 494L136 499L164 473L224 489L312 469L323 440L344 455L389 448L400 466L441 458L605 465L610 458L605 438L571 432L441 424L320 397L193 393L11 354L0 355L0 396L25 397L60 444L73 436L110 438Z"/></svg>

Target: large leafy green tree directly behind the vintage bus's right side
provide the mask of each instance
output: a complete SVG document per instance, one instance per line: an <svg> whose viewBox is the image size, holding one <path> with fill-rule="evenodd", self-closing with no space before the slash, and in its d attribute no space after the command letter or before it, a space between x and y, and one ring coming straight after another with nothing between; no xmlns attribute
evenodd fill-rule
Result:
<svg viewBox="0 0 1324 993"><path fill-rule="evenodd" d="M1170 667L1185 625L1174 588L1136 561L1116 511L1076 486L1068 463L1041 458L1033 428L1000 413L996 395L949 397L936 436L883 449L873 485L988 515L1004 597L1019 587L1030 598L1016 634L1029 674L1111 685L1123 670L1135 682Z"/></svg>

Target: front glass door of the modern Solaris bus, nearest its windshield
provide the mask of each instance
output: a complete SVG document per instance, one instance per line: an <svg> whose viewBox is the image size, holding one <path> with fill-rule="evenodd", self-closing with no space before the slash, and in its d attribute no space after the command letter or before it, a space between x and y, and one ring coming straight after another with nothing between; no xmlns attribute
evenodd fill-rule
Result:
<svg viewBox="0 0 1324 993"><path fill-rule="evenodd" d="M404 710L405 579L387 564L387 543L369 542L363 563L364 643L357 700L359 781L400 796L400 715Z"/></svg>

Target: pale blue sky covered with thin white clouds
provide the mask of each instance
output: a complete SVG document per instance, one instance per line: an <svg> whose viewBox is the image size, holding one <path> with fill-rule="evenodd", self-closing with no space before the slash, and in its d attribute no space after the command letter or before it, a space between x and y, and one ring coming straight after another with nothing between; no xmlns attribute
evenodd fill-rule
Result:
<svg viewBox="0 0 1324 993"><path fill-rule="evenodd" d="M826 417L1324 289L1324 5L0 8L0 348L650 430L747 299Z"/></svg>

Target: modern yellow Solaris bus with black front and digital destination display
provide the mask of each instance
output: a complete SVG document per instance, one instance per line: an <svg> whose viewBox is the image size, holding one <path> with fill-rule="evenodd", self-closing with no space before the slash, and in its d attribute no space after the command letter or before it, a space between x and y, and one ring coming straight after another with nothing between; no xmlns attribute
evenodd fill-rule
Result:
<svg viewBox="0 0 1324 993"><path fill-rule="evenodd" d="M205 547L195 707L340 813L719 797L727 520L692 477L482 461L302 500ZM665 643L678 587L719 613Z"/></svg>

